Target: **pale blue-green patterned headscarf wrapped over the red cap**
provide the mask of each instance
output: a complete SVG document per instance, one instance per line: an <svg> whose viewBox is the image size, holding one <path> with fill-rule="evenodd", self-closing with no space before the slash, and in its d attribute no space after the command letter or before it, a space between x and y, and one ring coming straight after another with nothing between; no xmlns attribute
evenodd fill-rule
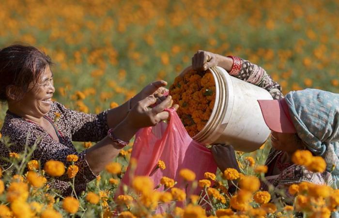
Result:
<svg viewBox="0 0 339 218"><path fill-rule="evenodd" d="M325 159L339 187L339 94L306 89L288 93L285 100L298 136Z"/></svg>

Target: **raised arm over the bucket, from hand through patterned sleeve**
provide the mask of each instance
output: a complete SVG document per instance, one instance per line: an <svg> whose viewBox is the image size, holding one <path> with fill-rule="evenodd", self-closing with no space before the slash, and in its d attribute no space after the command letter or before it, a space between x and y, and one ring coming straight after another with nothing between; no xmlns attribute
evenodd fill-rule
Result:
<svg viewBox="0 0 339 218"><path fill-rule="evenodd" d="M273 81L262 67L254 63L234 56L225 57L201 50L192 58L192 67L195 70L205 70L213 66L220 66L231 76L267 90L273 99L283 98L280 85Z"/></svg>

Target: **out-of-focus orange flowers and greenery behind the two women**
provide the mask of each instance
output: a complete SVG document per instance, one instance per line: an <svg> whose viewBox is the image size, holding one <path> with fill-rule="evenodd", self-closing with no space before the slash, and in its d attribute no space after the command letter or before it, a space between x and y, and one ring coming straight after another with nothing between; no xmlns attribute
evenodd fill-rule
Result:
<svg viewBox="0 0 339 218"><path fill-rule="evenodd" d="M117 107L156 79L170 85L198 49L262 66L283 93L338 92L338 13L338 0L0 0L0 48L23 43L44 50L55 62L54 100L89 113ZM1 105L0 125L5 111ZM76 145L80 151L92 144ZM268 150L269 144L238 154L239 163L251 169ZM117 159L123 171L130 151ZM112 201L108 185L120 180L109 175L91 182L86 195L94 204L100 199L101 216Z"/></svg>

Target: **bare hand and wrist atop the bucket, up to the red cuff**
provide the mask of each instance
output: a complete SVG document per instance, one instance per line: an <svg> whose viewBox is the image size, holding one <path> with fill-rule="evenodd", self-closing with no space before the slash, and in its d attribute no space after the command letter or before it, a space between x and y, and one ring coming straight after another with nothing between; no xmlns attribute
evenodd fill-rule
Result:
<svg viewBox="0 0 339 218"><path fill-rule="evenodd" d="M209 51L198 50L192 57L192 68L196 71L207 70L214 66L221 66L226 71L231 71L233 59Z"/></svg>

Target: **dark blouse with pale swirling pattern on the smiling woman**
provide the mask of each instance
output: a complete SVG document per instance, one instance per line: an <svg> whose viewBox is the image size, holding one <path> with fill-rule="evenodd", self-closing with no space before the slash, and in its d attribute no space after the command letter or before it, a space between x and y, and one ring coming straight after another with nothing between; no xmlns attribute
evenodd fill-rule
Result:
<svg viewBox="0 0 339 218"><path fill-rule="evenodd" d="M59 116L59 117L58 117ZM11 145L7 148L0 142L0 157L8 157L9 152L20 153L25 146L36 144L31 159L40 160L41 168L48 160L59 160L67 167L66 156L74 154L79 158L75 163L79 171L75 177L75 190L81 193L86 189L86 183L96 178L86 161L86 150L78 153L72 141L99 141L108 131L107 111L100 114L86 114L66 109L62 104L53 102L51 110L45 117L56 128L59 141L54 140L40 125L36 125L7 111L4 124L1 128L2 136L9 136ZM9 166L0 158L2 168ZM72 179L73 180L73 179ZM50 185L57 189L61 195L72 193L71 180L64 174L57 177Z"/></svg>

